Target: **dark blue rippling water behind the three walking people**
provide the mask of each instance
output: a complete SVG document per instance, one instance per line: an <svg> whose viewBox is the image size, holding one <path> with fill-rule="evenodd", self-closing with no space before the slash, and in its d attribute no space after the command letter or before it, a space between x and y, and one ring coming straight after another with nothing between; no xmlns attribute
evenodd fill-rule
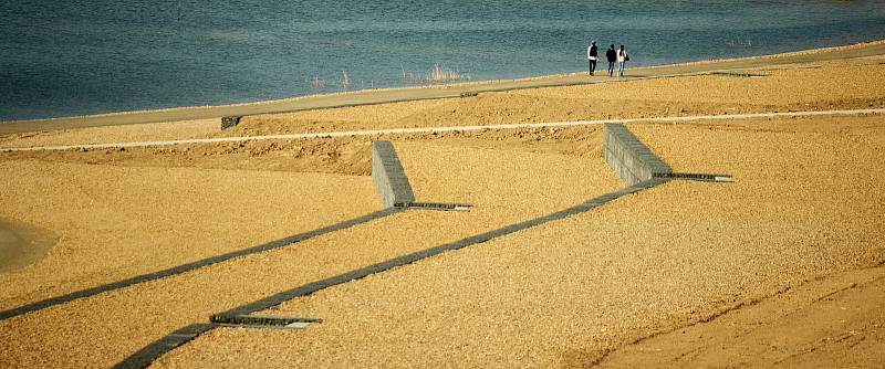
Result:
<svg viewBox="0 0 885 369"><path fill-rule="evenodd" d="M885 39L885 2L10 0L0 35L8 120L575 72L591 39L633 66L839 45Z"/></svg>

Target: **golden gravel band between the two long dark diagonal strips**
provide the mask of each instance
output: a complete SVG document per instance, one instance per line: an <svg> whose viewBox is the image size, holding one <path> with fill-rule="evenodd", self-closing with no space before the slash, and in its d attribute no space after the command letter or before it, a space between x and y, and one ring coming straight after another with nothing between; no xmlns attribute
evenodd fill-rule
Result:
<svg viewBox="0 0 885 369"><path fill-rule="evenodd" d="M475 208L468 213L407 211L280 250L2 320L0 333L7 355L0 363L111 365L169 330L206 320L212 313L534 218L563 203L585 201L622 186L601 158L584 160L552 154L416 144L396 147L418 200L457 200ZM539 172L546 176L530 175ZM488 179L483 181L473 180L485 176ZM551 191L569 187L572 189ZM364 193L360 191L330 193L341 198L336 201L379 202L374 193L362 199L360 196ZM309 215L312 211L300 213ZM45 321L53 324L45 326ZM77 349L83 346L94 350Z"/></svg>

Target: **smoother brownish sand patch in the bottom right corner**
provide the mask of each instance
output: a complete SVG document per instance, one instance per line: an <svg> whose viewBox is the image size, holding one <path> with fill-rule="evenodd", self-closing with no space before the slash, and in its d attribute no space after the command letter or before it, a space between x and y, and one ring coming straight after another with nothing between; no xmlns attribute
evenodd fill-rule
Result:
<svg viewBox="0 0 885 369"><path fill-rule="evenodd" d="M878 368L884 309L883 266L848 271L627 345L600 367Z"/></svg>

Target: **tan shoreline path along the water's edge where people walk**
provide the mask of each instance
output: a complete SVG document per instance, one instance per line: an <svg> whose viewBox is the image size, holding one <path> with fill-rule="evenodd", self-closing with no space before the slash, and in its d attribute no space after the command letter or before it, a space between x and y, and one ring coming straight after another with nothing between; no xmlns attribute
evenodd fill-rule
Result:
<svg viewBox="0 0 885 369"><path fill-rule="evenodd" d="M516 80L489 80L445 85L405 86L377 89L360 89L329 94L293 96L250 103L206 106L180 106L159 109L112 112L84 116L67 116L45 119L0 120L0 135L39 130L60 130L96 126L114 126L143 123L164 123L194 119L220 118L229 115L277 114L321 108L336 108L420 99L452 98L461 94L504 92L525 88L554 87L634 81L638 78L667 77L675 75L705 74L718 71L759 68L771 65L793 64L814 60L854 59L885 53L885 40L793 51L780 54L756 55L737 59L705 60L678 64L665 64L629 68L623 78L589 77L583 72L542 75ZM829 57L827 57L829 56ZM648 75L644 75L648 74Z"/></svg>

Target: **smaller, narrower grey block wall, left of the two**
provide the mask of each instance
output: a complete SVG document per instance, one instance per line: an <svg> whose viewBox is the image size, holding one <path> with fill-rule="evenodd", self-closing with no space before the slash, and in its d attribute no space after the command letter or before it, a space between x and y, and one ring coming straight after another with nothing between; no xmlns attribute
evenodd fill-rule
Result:
<svg viewBox="0 0 885 369"><path fill-rule="evenodd" d="M396 156L394 145L387 140L372 141L372 180L378 189L385 208L415 201L406 171Z"/></svg>

